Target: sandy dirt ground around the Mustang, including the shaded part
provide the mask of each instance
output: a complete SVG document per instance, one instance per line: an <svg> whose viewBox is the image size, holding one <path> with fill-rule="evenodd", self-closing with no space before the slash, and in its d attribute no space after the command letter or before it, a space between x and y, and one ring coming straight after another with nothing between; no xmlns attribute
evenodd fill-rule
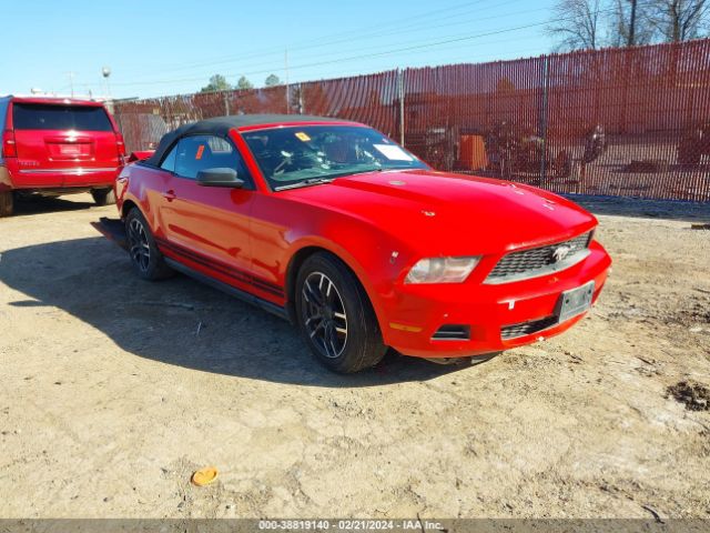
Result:
<svg viewBox="0 0 710 533"><path fill-rule="evenodd" d="M136 279L90 225L113 207L21 204L0 220L0 516L710 517L710 411L668 392L710 386L710 207L587 204L615 264L577 328L354 376L263 311Z"/></svg>

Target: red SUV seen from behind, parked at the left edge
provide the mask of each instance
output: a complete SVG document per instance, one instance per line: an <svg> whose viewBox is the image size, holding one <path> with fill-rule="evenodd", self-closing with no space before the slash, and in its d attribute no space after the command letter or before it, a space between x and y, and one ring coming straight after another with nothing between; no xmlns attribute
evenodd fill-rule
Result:
<svg viewBox="0 0 710 533"><path fill-rule="evenodd" d="M19 193L91 192L113 203L125 148L103 103L47 97L0 98L0 217Z"/></svg>

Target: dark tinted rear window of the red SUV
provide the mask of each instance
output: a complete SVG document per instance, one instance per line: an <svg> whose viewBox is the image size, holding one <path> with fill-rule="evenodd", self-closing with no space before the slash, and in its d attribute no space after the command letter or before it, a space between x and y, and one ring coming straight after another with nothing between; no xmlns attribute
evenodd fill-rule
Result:
<svg viewBox="0 0 710 533"><path fill-rule="evenodd" d="M113 131L105 110L89 105L16 103L12 122L16 130Z"/></svg>

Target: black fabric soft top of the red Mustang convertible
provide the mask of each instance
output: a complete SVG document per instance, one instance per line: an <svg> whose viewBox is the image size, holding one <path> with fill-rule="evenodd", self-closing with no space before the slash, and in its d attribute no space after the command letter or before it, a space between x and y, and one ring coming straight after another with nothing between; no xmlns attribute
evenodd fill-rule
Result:
<svg viewBox="0 0 710 533"><path fill-rule="evenodd" d="M349 122L344 119L329 117L312 117L307 114L233 114L230 117L216 117L214 119L200 120L190 124L184 124L176 130L163 135L155 149L155 153L144 160L144 164L158 167L163 160L163 155L175 140L184 135L210 134L225 137L233 128L243 125L270 125L283 122Z"/></svg>

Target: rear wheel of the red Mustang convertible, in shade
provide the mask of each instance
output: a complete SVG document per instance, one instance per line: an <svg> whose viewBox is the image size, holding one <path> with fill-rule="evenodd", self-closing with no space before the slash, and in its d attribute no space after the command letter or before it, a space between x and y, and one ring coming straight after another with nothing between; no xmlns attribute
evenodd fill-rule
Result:
<svg viewBox="0 0 710 533"><path fill-rule="evenodd" d="M173 274L173 270L165 264L163 254L158 250L148 222L136 208L125 218L125 238L131 263L138 275L154 281Z"/></svg>

